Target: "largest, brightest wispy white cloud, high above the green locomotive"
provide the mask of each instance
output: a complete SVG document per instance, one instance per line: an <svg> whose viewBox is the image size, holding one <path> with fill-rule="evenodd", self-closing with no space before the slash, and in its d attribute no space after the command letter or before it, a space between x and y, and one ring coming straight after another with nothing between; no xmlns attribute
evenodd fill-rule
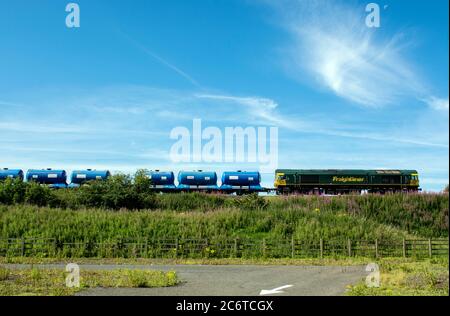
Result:
<svg viewBox="0 0 450 316"><path fill-rule="evenodd" d="M287 5L289 4L289 9ZM354 103L379 107L399 97L423 95L404 58L402 33L380 39L365 25L362 6L336 1L277 2L281 22L293 36L289 71Z"/></svg>

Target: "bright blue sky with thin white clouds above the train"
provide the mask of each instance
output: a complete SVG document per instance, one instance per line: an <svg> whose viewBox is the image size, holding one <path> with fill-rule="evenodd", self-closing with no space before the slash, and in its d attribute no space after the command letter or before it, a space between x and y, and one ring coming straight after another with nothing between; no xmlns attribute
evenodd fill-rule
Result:
<svg viewBox="0 0 450 316"><path fill-rule="evenodd" d="M174 163L173 128L277 126L280 168L449 182L448 1L0 0L0 166ZM375 1L376 2L376 1ZM273 174L263 176L271 185Z"/></svg>

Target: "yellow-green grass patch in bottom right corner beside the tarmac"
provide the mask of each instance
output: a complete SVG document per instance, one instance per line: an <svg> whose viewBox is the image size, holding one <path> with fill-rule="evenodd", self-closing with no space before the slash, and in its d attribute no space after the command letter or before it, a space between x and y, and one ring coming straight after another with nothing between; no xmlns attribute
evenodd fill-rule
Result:
<svg viewBox="0 0 450 316"><path fill-rule="evenodd" d="M349 286L350 296L448 296L448 258L424 261L385 259L378 262L379 287L368 287L362 281Z"/></svg>

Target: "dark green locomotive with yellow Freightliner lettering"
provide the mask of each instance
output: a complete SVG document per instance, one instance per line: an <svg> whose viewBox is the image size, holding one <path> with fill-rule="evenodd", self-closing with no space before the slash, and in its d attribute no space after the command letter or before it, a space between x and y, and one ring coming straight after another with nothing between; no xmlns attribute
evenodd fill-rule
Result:
<svg viewBox="0 0 450 316"><path fill-rule="evenodd" d="M385 193L419 190L416 170L296 170L275 171L279 194Z"/></svg>

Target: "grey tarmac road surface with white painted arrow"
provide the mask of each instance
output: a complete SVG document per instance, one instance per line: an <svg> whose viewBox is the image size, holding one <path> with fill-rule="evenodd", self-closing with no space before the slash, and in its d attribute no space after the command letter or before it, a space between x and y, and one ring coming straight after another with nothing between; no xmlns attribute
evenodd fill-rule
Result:
<svg viewBox="0 0 450 316"><path fill-rule="evenodd" d="M9 265L25 268L29 265ZM35 265L35 267L37 267ZM64 265L41 265L61 268ZM263 266L263 265L80 265L80 271L112 269L176 271L181 284L166 288L96 288L79 296L256 296L261 290L292 285L285 296L345 294L346 286L367 276L364 266Z"/></svg>

